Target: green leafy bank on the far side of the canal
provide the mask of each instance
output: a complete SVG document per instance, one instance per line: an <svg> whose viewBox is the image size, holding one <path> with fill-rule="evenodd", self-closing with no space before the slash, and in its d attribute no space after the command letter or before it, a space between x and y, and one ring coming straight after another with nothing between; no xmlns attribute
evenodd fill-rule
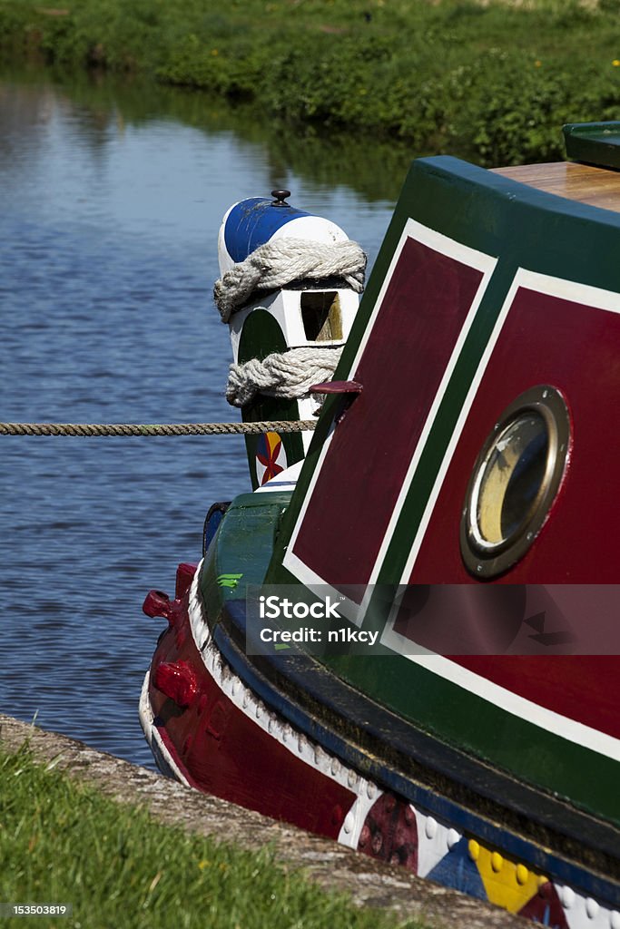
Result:
<svg viewBox="0 0 620 929"><path fill-rule="evenodd" d="M620 118L619 14L620 0L0 0L0 44L508 164L561 157L564 122Z"/></svg>

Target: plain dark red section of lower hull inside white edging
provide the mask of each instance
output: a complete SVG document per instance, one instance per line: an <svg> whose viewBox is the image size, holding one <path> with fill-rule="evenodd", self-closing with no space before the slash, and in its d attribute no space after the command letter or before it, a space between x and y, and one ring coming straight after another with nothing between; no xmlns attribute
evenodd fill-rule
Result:
<svg viewBox="0 0 620 929"><path fill-rule="evenodd" d="M297 737L283 745L220 690L191 635L187 595L179 614L174 634L158 644L149 688L159 738L178 770L192 787L336 839L355 794L304 761ZM179 667L195 686L184 713L166 699L182 705Z"/></svg>

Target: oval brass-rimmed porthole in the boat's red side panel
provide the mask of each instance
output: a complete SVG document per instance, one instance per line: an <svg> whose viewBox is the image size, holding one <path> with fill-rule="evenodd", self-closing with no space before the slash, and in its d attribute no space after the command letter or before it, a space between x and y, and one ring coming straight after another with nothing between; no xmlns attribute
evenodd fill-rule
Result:
<svg viewBox="0 0 620 929"><path fill-rule="evenodd" d="M461 518L461 553L477 577L508 570L534 543L569 442L569 413L554 387L533 387L502 413L474 466Z"/></svg>

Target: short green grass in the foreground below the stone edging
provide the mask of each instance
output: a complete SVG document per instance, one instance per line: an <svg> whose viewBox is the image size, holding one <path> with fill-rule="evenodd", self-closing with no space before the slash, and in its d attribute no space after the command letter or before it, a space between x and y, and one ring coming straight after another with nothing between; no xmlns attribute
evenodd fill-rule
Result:
<svg viewBox="0 0 620 929"><path fill-rule="evenodd" d="M27 748L0 751L0 902L73 904L71 918L3 921L26 929L388 929L303 875L257 854L159 825ZM400 923L403 925L403 923ZM418 925L407 922L413 929Z"/></svg>

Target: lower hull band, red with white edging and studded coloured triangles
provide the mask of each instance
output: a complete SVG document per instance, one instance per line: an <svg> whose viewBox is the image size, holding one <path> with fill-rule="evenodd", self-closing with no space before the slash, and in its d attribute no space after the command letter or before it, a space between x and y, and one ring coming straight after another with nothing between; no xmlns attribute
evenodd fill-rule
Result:
<svg viewBox="0 0 620 929"><path fill-rule="evenodd" d="M179 779L371 857L495 900L534 922L571 929L576 923L566 919L565 901L572 901L575 916L577 909L585 914L588 907L599 907L518 860L484 848L476 838L438 822L402 797L381 791L287 726L231 674L212 641L197 647L186 589L191 581L188 566L181 566L178 577L178 599L166 608L168 630L145 681L152 714L145 731L152 743L158 740L156 755L163 749ZM499 870L504 871L501 876ZM614 914L603 912L614 926Z"/></svg>

